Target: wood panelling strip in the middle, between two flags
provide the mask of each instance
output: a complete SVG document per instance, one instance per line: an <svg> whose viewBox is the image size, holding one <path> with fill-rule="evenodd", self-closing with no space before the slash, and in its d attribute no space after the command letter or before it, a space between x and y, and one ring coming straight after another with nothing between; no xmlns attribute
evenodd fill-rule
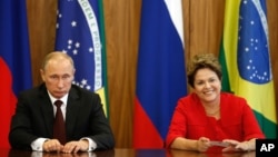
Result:
<svg viewBox="0 0 278 157"><path fill-rule="evenodd" d="M140 1L103 1L110 124L117 147L131 146Z"/></svg>

